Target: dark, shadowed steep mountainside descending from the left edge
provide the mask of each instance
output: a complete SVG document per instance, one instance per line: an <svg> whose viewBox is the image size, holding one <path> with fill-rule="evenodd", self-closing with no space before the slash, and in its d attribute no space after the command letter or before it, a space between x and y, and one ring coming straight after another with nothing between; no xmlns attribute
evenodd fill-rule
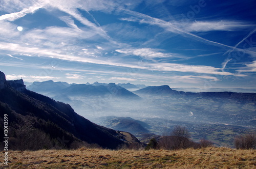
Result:
<svg viewBox="0 0 256 169"><path fill-rule="evenodd" d="M6 81L2 72L0 80L0 130L4 133L3 115L7 114L10 148L71 148L83 141L115 149L126 143L122 134L79 116L68 104L28 91L24 85L25 90L18 91L23 80L18 81L17 87L12 85L14 88L8 83L15 81Z"/></svg>

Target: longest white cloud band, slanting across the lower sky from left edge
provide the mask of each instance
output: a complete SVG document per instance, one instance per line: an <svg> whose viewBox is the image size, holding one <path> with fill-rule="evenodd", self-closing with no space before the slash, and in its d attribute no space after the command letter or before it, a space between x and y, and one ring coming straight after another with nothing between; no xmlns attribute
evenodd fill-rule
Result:
<svg viewBox="0 0 256 169"><path fill-rule="evenodd" d="M195 65L184 65L184 64L175 64L175 63L145 63L138 64L135 63L122 63L116 62L115 60L105 60L79 57L77 55L70 54L61 54L49 49L40 49L37 47L24 47L18 44L11 43L2 43L0 49L9 50L15 52L25 52L31 55L41 55L47 58L55 58L66 61L82 62L82 63L92 63L99 65L110 65L116 67L127 67L127 68L136 68L136 69L145 69L145 70L154 70L154 71L177 71L177 72L194 72L194 73L204 73L204 74L217 74L217 75L233 75L229 72L221 72L220 68L215 68L211 66L195 66Z"/></svg>

